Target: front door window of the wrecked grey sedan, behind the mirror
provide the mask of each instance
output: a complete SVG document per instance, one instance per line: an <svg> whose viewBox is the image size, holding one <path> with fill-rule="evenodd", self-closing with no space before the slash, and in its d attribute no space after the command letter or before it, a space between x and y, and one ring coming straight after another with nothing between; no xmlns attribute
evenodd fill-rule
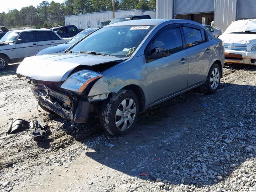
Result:
<svg viewBox="0 0 256 192"><path fill-rule="evenodd" d="M160 32L152 41L152 48L165 48L171 53L182 50L182 36L180 28L166 29Z"/></svg>

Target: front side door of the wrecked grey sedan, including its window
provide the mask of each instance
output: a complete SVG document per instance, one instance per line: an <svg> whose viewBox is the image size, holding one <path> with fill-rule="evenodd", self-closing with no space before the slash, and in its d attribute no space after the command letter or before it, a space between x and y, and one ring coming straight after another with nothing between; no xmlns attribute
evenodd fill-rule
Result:
<svg viewBox="0 0 256 192"><path fill-rule="evenodd" d="M176 24L161 30L147 46L146 50L165 48L171 52L147 63L151 104L187 88L188 53L183 42L180 24Z"/></svg>

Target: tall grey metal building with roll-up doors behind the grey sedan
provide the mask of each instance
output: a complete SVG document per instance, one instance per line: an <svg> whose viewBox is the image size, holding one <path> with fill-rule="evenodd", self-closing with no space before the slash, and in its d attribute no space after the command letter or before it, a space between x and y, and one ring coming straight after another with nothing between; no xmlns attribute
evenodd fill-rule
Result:
<svg viewBox="0 0 256 192"><path fill-rule="evenodd" d="M232 21L256 18L256 0L156 0L156 18L214 21L224 32Z"/></svg>

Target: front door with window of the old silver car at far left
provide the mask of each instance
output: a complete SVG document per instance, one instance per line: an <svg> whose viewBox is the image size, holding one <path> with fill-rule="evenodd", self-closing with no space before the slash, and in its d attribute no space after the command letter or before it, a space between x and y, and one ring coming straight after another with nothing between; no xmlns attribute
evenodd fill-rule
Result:
<svg viewBox="0 0 256 192"><path fill-rule="evenodd" d="M34 56L38 53L38 46L34 32L21 32L18 41L15 44L17 58Z"/></svg>

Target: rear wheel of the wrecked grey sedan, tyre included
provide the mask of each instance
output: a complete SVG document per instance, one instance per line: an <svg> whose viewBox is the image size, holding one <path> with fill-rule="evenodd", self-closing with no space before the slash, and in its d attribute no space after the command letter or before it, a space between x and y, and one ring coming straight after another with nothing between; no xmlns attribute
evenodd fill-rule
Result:
<svg viewBox="0 0 256 192"><path fill-rule="evenodd" d="M220 78L220 66L218 64L213 64L210 68L205 84L201 86L202 92L208 94L215 93L220 85Z"/></svg>

